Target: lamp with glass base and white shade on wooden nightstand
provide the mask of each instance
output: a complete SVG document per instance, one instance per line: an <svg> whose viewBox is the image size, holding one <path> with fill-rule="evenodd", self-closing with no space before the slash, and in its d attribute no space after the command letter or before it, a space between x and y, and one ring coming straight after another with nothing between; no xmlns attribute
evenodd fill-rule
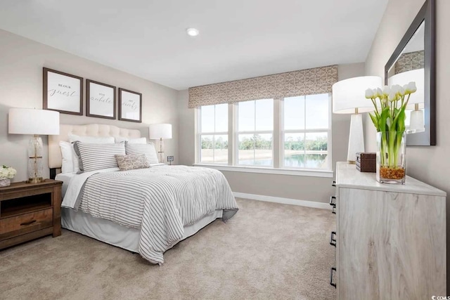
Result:
<svg viewBox="0 0 450 300"><path fill-rule="evenodd" d="M59 112L30 108L10 108L8 112L8 133L32 134L28 143L28 181L39 183L44 172L42 162L43 146L41 134L59 134Z"/></svg>

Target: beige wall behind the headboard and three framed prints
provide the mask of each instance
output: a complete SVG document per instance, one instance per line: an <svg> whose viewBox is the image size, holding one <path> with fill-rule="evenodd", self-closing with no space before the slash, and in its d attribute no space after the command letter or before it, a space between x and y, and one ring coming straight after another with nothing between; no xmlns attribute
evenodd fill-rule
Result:
<svg viewBox="0 0 450 300"><path fill-rule="evenodd" d="M13 181L27 179L27 144L30 136L8 134L8 109L10 107L42 108L42 67L142 93L142 123L60 114L61 123L113 124L129 129L140 129L142 136L146 137L148 137L148 124L171 123L173 138L165 141L165 155L174 155L176 161L178 160L177 105L179 102L176 90L0 30L0 164L6 164L18 170ZM86 115L85 100L84 115ZM46 136L42 136L42 139L44 141L44 175L48 178L48 140Z"/></svg>

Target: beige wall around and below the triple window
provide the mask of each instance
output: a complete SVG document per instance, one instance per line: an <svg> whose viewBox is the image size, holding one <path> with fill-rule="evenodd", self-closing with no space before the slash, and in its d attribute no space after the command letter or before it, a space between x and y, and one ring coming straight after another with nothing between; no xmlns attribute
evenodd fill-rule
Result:
<svg viewBox="0 0 450 300"><path fill-rule="evenodd" d="M339 80L364 75L364 63L339 65ZM179 91L179 146L180 163L195 162L195 110L188 108L188 91ZM350 115L332 117L332 157L335 162L347 160ZM236 171L222 171L233 192L283 197L296 200L328 202L333 195L331 178L255 174Z"/></svg>

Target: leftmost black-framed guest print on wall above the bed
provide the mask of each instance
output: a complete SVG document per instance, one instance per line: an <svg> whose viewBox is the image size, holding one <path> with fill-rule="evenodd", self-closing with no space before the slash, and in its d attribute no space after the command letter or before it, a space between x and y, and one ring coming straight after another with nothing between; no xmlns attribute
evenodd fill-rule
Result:
<svg viewBox="0 0 450 300"><path fill-rule="evenodd" d="M83 115L83 78L43 68L43 107L63 114Z"/></svg>

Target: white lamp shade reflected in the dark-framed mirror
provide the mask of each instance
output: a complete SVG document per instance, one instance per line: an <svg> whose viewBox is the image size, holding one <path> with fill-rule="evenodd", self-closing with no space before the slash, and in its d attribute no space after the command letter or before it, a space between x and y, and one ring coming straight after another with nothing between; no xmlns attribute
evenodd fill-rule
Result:
<svg viewBox="0 0 450 300"><path fill-rule="evenodd" d="M421 68L417 70L402 72L399 74L395 74L387 79L387 84L389 84L390 86L392 84L399 84L400 86L404 86L405 84L409 84L411 81L416 82L417 91L415 93L411 93L408 105L406 106L407 110L413 110L414 104L416 103L425 102L425 69ZM423 108L423 104L419 105L419 107Z"/></svg>

